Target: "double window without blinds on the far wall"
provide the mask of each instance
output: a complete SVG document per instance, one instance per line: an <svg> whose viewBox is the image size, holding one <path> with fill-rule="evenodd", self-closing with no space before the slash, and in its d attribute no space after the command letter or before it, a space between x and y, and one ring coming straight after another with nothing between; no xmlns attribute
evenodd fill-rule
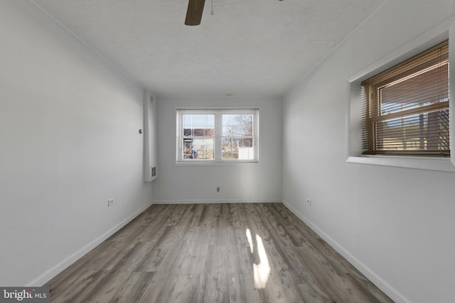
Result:
<svg viewBox="0 0 455 303"><path fill-rule="evenodd" d="M259 110L177 110L178 162L257 162Z"/></svg>

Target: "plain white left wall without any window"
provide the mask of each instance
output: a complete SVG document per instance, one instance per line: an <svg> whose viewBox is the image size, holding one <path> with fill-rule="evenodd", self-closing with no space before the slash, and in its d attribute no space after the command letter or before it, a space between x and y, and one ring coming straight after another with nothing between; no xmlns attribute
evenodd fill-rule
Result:
<svg viewBox="0 0 455 303"><path fill-rule="evenodd" d="M0 43L0 285L41 285L151 202L142 90L28 1Z"/></svg>

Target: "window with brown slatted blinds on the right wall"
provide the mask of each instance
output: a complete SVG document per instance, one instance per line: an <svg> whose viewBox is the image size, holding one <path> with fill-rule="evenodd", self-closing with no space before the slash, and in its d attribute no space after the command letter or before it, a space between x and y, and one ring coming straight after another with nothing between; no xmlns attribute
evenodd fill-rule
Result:
<svg viewBox="0 0 455 303"><path fill-rule="evenodd" d="M448 41L362 83L363 154L450 156Z"/></svg>

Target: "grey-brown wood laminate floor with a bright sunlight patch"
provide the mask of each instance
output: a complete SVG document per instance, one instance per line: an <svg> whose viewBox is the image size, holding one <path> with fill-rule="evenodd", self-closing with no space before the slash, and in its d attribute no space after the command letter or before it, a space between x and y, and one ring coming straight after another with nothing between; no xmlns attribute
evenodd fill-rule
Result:
<svg viewBox="0 0 455 303"><path fill-rule="evenodd" d="M50 302L392 302L281 203L151 206L46 286Z"/></svg>

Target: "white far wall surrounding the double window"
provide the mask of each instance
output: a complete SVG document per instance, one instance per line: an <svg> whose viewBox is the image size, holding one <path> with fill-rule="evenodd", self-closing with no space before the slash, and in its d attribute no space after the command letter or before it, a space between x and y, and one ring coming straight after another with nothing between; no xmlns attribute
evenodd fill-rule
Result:
<svg viewBox="0 0 455 303"><path fill-rule="evenodd" d="M261 106L259 164L175 166L177 106ZM282 201L281 97L159 97L154 203ZM216 187L220 186L220 192Z"/></svg>

